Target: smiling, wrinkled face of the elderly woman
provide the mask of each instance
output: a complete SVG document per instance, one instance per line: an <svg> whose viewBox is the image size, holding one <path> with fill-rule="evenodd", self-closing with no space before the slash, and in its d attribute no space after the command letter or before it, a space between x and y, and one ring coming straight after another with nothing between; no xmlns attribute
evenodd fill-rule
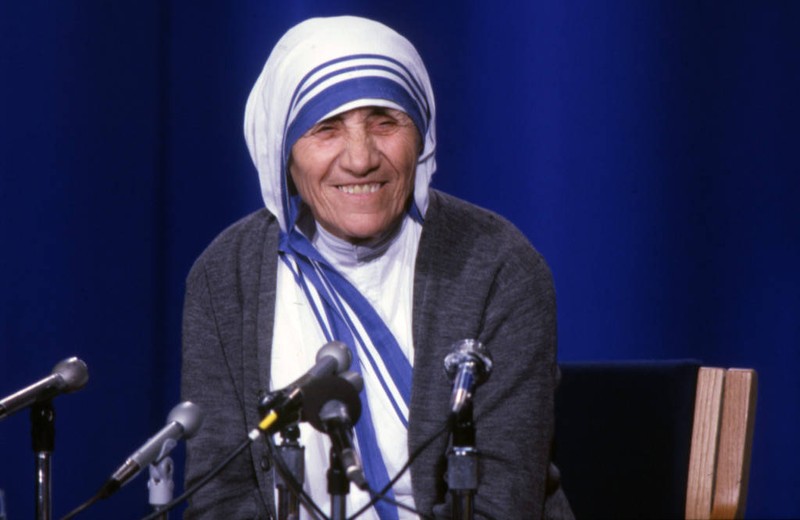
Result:
<svg viewBox="0 0 800 520"><path fill-rule="evenodd" d="M356 108L320 121L292 146L289 172L314 219L351 243L396 224L414 191L421 139L391 108Z"/></svg>

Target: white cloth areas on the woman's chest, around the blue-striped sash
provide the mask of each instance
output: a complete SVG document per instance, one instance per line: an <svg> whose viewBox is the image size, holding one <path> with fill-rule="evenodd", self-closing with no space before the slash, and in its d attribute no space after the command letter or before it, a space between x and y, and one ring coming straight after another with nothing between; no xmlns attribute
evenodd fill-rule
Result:
<svg viewBox="0 0 800 520"><path fill-rule="evenodd" d="M358 256L364 253L360 248L321 231L319 226L318 229L314 246L367 297L404 348L406 357L413 363L411 288L422 227L411 218L406 218L400 233L386 252L367 263L358 260ZM325 343L322 331L315 325L316 320L303 290L295 283L291 271L282 261L278 262L278 294L280 297L275 308L270 382L272 388L283 388L299 377L307 367L313 366L319 347ZM391 478L408 460L407 432L386 394L380 391L380 385L372 371L364 370L364 382L373 422L380 425L376 428L378 445L384 454L386 469ZM302 423L300 443L306 448L306 491L326 514L330 514L325 478L330 442L327 436ZM411 476L408 472L393 489L395 499L414 506ZM347 502L348 514L355 513L368 501L369 496L365 492L351 486ZM402 509L399 514L401 519L416 518ZM308 516L304 513L303 518ZM378 516L371 509L359 518L377 519Z"/></svg>

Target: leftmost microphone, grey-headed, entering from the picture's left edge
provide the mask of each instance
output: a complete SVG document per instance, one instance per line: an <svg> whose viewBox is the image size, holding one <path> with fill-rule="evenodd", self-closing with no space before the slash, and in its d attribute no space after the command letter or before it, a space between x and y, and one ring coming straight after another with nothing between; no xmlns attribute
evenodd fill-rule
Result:
<svg viewBox="0 0 800 520"><path fill-rule="evenodd" d="M58 394L80 390L88 380L86 363L76 357L67 358L56 364L49 376L1 400L0 420Z"/></svg>

